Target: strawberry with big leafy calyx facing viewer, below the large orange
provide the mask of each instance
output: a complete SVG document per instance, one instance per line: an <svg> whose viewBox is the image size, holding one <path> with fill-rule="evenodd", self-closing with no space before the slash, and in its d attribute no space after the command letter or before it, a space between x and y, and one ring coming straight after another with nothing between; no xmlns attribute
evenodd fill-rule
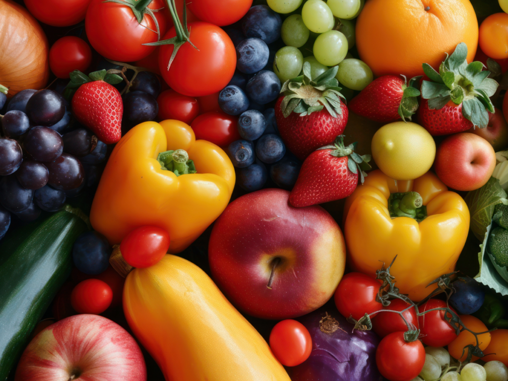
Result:
<svg viewBox="0 0 508 381"><path fill-rule="evenodd" d="M472 126L486 128L489 111L494 112L490 97L499 84L488 78L482 62L467 63L467 46L461 42L439 66L439 73L428 63L423 71L430 81L422 81L420 124L433 136L455 134Z"/></svg>

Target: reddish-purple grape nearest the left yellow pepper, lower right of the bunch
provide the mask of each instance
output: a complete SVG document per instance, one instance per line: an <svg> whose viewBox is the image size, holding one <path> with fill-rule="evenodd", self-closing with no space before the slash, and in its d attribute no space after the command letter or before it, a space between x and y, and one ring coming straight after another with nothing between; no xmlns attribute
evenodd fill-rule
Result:
<svg viewBox="0 0 508 381"><path fill-rule="evenodd" d="M49 170L48 184L57 189L71 190L80 186L85 179L85 170L80 161L68 153L46 163Z"/></svg>

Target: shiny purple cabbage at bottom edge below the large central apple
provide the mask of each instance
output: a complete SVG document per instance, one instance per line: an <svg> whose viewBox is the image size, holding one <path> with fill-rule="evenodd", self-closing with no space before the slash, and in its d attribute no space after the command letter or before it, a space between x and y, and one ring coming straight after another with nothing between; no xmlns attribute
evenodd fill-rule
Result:
<svg viewBox="0 0 508 381"><path fill-rule="evenodd" d="M379 343L372 331L354 330L335 306L322 307L297 319L312 337L312 352L291 368L292 381L380 381L376 367Z"/></svg>

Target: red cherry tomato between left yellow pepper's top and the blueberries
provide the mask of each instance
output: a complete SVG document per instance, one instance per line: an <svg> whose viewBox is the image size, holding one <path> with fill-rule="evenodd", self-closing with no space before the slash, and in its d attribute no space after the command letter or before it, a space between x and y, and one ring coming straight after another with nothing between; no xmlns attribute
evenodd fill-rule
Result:
<svg viewBox="0 0 508 381"><path fill-rule="evenodd" d="M191 125L196 139L203 139L227 147L235 140L241 139L238 134L238 116L228 115L223 111L211 111L198 116Z"/></svg>

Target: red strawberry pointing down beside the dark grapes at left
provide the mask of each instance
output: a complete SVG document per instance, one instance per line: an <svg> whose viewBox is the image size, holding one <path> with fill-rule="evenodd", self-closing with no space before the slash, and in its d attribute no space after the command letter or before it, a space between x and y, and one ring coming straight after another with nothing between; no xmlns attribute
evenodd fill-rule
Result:
<svg viewBox="0 0 508 381"><path fill-rule="evenodd" d="M89 77L75 70L64 93L69 97L77 88L72 98L74 116L106 144L116 143L121 137L123 103L111 85L121 81L120 76L106 70L90 73Z"/></svg>

